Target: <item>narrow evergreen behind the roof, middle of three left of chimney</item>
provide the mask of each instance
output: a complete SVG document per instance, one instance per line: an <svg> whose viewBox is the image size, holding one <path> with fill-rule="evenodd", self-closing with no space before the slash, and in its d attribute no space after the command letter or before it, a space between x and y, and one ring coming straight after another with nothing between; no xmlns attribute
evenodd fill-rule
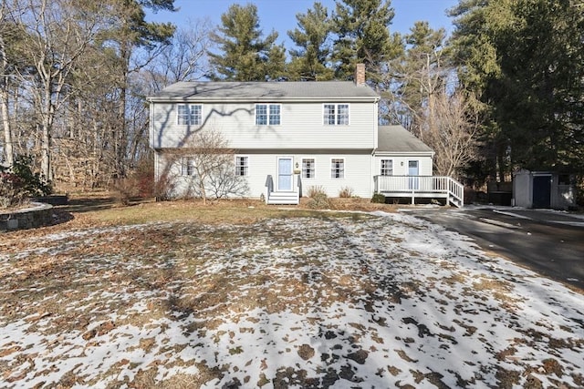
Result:
<svg viewBox="0 0 584 389"><path fill-rule="evenodd" d="M313 9L306 14L297 14L296 18L298 27L288 31L288 36L298 46L298 49L290 50L290 78L306 81L332 79L334 71L328 67L331 24L327 7L316 2Z"/></svg>

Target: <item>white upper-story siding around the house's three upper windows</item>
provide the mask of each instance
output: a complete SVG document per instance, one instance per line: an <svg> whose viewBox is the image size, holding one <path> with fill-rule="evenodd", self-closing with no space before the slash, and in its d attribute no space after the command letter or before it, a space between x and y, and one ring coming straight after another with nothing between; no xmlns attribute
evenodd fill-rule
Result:
<svg viewBox="0 0 584 389"><path fill-rule="evenodd" d="M276 102L277 103L277 102ZM350 102L349 125L323 124L323 102L282 102L279 126L256 126L255 103L205 104L203 125L177 124L178 104L151 104L151 148L181 148L202 128L220 131L231 148L369 148L377 143L377 104ZM189 104L200 104L197 102Z"/></svg>

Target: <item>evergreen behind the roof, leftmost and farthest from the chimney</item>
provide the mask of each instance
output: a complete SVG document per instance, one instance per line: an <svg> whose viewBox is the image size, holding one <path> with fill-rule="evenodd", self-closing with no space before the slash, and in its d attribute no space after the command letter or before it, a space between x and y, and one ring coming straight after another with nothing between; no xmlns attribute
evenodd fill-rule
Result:
<svg viewBox="0 0 584 389"><path fill-rule="evenodd" d="M209 53L209 61L215 69L210 75L212 79L266 81L283 76L284 46L275 44L275 31L262 39L255 5L231 5L221 15L221 22L219 33L211 36L221 50L221 53Z"/></svg>

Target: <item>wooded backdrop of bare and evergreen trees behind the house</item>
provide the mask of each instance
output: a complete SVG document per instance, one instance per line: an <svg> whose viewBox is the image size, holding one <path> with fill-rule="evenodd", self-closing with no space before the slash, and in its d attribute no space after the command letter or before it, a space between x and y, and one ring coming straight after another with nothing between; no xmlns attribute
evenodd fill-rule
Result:
<svg viewBox="0 0 584 389"><path fill-rule="evenodd" d="M389 0L316 2L293 47L263 33L253 4L179 29L145 20L162 9L173 0L0 0L3 163L31 156L57 189L109 188L153 166L146 97L162 87L348 80L365 63L381 124L434 148L435 174L476 189L521 168L581 182L582 0L461 0L452 36L423 21L392 33Z"/></svg>

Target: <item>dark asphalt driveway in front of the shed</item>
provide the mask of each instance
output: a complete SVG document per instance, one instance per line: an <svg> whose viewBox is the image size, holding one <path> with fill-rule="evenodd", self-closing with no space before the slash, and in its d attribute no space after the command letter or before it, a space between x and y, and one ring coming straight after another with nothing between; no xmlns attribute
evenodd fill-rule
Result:
<svg viewBox="0 0 584 389"><path fill-rule="evenodd" d="M584 289L584 215L512 207L413 210L473 238L486 251Z"/></svg>

